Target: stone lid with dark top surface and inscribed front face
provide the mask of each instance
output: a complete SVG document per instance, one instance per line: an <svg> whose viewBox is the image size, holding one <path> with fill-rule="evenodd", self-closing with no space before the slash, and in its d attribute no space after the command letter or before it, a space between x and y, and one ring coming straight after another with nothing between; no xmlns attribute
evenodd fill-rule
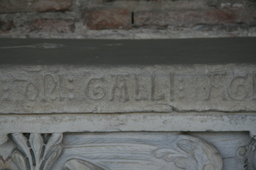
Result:
<svg viewBox="0 0 256 170"><path fill-rule="evenodd" d="M0 113L256 111L256 38L0 40Z"/></svg>

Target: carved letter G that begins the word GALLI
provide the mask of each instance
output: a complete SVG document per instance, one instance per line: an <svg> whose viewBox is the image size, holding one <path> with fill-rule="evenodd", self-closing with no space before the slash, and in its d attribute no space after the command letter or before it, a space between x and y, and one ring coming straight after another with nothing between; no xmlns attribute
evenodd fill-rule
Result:
<svg viewBox="0 0 256 170"><path fill-rule="evenodd" d="M90 93L90 85L93 83L93 82L96 82L96 81L101 81L103 82L104 81L104 78L103 77L99 77L99 78L92 78L89 80L87 86L86 86L86 95L93 99L93 100L99 100L99 99L102 99L104 97L104 95L106 94L106 90L105 90L105 87L101 84L95 84L94 85L94 88L93 88L93 94Z"/></svg>

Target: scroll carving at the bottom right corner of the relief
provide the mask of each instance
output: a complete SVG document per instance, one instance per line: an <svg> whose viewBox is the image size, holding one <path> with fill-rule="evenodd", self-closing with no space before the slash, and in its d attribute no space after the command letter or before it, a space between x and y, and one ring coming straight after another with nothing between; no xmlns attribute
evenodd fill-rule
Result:
<svg viewBox="0 0 256 170"><path fill-rule="evenodd" d="M251 141L245 146L237 150L237 158L242 162L243 170L256 169L256 140Z"/></svg>

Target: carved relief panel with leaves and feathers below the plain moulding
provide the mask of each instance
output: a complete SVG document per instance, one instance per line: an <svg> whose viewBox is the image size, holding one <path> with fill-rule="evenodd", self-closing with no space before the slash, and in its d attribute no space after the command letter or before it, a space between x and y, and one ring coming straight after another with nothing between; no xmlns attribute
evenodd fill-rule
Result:
<svg viewBox="0 0 256 170"><path fill-rule="evenodd" d="M0 169L255 169L247 132L13 133Z"/></svg>

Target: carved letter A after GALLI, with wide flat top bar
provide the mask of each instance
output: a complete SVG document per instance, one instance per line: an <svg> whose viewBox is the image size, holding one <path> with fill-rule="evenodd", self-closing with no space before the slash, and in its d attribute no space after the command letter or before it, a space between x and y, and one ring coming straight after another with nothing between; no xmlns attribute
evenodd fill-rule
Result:
<svg viewBox="0 0 256 170"><path fill-rule="evenodd" d="M211 78L211 80L210 80L210 85L209 85L209 89L208 89L207 96L206 96L205 100L210 99L210 92L211 92L212 87L218 88L218 87L223 86L222 85L222 76L226 76L226 72L214 72L214 73L212 73L208 76ZM219 76L219 83L218 84L216 84L214 82L216 76ZM226 99L226 92L225 92L223 87L222 87L222 97L223 97L223 100Z"/></svg>

